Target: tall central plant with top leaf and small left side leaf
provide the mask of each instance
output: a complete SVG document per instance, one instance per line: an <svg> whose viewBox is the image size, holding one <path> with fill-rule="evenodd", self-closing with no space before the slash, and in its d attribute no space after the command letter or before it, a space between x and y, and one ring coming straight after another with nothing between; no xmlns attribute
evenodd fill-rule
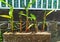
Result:
<svg viewBox="0 0 60 42"><path fill-rule="evenodd" d="M26 17L26 30L25 30L26 32L28 31L28 27L29 27L29 20L28 20L28 19L29 19L29 16L28 16L29 13L28 13L28 8L29 8L34 2L35 2L35 0L33 0L33 2L31 2L31 3L29 2L29 4L28 4L27 7L26 7L26 6L24 7L25 10L26 10L26 14L24 14L23 12L22 12L22 13L19 12L20 15L23 15L23 16Z"/></svg>

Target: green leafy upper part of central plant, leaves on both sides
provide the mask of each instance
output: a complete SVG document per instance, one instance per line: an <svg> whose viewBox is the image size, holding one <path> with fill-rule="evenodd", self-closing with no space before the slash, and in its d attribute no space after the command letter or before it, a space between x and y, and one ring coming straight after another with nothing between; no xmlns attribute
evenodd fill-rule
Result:
<svg viewBox="0 0 60 42"><path fill-rule="evenodd" d="M24 7L25 10L26 10L26 14L24 14L23 11L20 11L19 14L22 15L22 16L25 16L25 17L27 17L27 18L36 20L36 17L35 17L35 15L33 15L33 14L30 15L31 17L28 16L28 8L29 8L35 1L36 1L36 0L33 0L33 2L29 2L28 6L27 6L27 7L26 7L26 6Z"/></svg>

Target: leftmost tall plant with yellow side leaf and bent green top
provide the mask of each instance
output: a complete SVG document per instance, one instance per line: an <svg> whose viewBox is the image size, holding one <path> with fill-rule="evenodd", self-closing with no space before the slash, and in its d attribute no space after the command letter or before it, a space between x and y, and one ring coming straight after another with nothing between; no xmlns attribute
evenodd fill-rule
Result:
<svg viewBox="0 0 60 42"><path fill-rule="evenodd" d="M13 7L10 4L6 3L4 0L0 0L0 1L10 7L9 15L0 15L0 17L4 17L4 18L8 18L9 19L10 25L11 25L11 30L13 32Z"/></svg>

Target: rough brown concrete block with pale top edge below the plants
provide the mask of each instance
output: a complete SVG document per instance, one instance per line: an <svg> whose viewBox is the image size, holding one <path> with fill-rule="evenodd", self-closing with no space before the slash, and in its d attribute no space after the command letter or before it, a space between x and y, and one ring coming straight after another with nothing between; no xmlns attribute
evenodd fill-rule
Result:
<svg viewBox="0 0 60 42"><path fill-rule="evenodd" d="M50 42L51 34L48 32L38 33L7 33L3 34L4 42Z"/></svg>

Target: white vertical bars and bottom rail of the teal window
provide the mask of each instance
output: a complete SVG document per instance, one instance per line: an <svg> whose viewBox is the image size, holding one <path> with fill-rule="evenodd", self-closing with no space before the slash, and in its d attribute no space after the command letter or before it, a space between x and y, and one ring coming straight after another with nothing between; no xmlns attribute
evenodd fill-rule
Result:
<svg viewBox="0 0 60 42"><path fill-rule="evenodd" d="M33 0L32 0L32 1L33 1ZM30 2L32 2L32 1L30 0ZM56 7L56 8L54 8L54 6L53 6L53 5L54 5L54 0L52 0L52 2L51 2L51 3L52 3L52 4L51 4L51 8L49 8L49 2L47 2L47 1L50 1L50 0L46 0L46 3L45 3L45 4L46 4L46 7L45 7L45 8L44 8L44 3L43 3L43 1L44 1L44 0L41 0L41 5L38 6L38 0L36 0L36 2L35 2L35 7L33 7L33 5L31 5L29 9L31 9L31 10L52 10L52 9L60 10L60 8L59 8L59 7L60 7L60 5L59 5L59 4L60 4L60 3L59 3L60 1L59 1L59 0L57 0L57 2L56 2L56 4L57 4L57 7ZM8 0L7 0L7 2L8 2ZM18 5L17 5L18 7L14 7L14 5L15 5L15 4L14 4L14 0L12 0L12 5L13 5L14 9L24 9L24 7L21 7L21 3L20 3L20 2L21 2L21 0L18 1L18 3L17 3L17 4L18 4ZM26 0L24 0L23 3L24 3L24 5L26 6ZM48 3L48 4L47 4L47 3ZM1 4L2 4L2 3L0 2L0 9L1 9L1 8L3 8L3 9L5 9L5 8L6 8L6 9L9 9L9 7L8 7L7 5L6 5L5 7L2 7Z"/></svg>

